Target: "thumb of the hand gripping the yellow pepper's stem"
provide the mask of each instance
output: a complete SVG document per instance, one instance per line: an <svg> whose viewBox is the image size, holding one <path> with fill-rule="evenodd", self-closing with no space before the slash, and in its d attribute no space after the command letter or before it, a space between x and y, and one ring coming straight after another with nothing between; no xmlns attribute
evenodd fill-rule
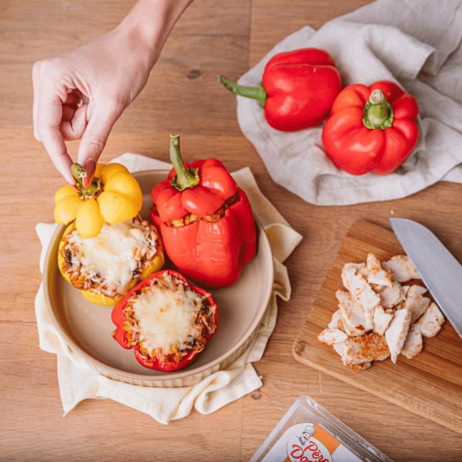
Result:
<svg viewBox="0 0 462 462"><path fill-rule="evenodd" d="M108 110L107 107L103 111L98 111L98 106L90 106L88 103L87 126L77 151L77 162L87 171L87 176L83 182L84 187L92 181L99 156L121 113L122 111L116 108Z"/></svg>

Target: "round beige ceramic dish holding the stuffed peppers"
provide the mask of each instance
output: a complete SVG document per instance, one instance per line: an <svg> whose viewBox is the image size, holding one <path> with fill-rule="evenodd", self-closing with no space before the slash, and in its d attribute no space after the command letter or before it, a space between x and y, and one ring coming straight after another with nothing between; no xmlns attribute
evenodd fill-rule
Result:
<svg viewBox="0 0 462 462"><path fill-rule="evenodd" d="M143 191L143 218L149 218L151 189L167 177L167 170L134 173ZM218 329L206 348L187 368L175 373L152 371L136 361L133 350L123 349L112 338L112 308L93 305L66 282L57 264L65 225L60 225L47 250L44 271L45 300L50 316L69 347L88 366L111 379L149 387L182 387L200 382L225 369L253 341L266 312L273 288L273 257L262 226L257 221L257 253L243 266L232 286L211 290L218 310Z"/></svg>

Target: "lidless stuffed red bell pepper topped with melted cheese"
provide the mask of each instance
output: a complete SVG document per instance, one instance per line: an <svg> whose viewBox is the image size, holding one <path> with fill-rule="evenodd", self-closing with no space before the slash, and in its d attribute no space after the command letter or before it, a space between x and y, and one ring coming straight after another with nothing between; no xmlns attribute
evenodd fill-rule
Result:
<svg viewBox="0 0 462 462"><path fill-rule="evenodd" d="M156 371L178 371L196 359L215 334L216 304L205 290L172 270L142 281L112 309L113 337Z"/></svg>

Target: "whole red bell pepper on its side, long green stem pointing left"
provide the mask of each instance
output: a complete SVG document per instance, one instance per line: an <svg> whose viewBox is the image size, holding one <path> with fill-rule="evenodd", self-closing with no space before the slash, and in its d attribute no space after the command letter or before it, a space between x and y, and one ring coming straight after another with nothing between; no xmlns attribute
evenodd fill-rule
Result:
<svg viewBox="0 0 462 462"><path fill-rule="evenodd" d="M218 79L232 93L259 100L268 124L284 132L324 122L342 88L334 60L317 48L273 56L265 66L259 87L238 85L223 76Z"/></svg>

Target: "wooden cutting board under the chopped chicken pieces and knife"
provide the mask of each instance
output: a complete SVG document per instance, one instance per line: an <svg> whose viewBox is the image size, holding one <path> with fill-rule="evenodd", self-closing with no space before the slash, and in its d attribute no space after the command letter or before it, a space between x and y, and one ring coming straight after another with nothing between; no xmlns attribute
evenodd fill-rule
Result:
<svg viewBox="0 0 462 462"><path fill-rule="evenodd" d="M396 364L390 359L376 361L369 369L358 372L343 366L333 348L317 340L337 309L335 291L343 288L343 265L364 262L369 252L380 260L404 254L393 232L357 221L345 237L293 344L294 358L462 433L462 339L449 321L435 337L424 338L423 351L416 358L407 360L400 355Z"/></svg>

